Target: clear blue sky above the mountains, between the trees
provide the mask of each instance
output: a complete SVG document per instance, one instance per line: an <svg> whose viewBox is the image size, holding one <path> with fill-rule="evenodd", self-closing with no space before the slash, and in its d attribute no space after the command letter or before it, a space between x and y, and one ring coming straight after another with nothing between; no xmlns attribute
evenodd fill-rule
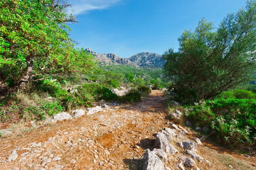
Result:
<svg viewBox="0 0 256 170"><path fill-rule="evenodd" d="M215 26L245 0L70 0L79 23L70 25L78 47L127 58L178 49L177 38L205 17Z"/></svg>

